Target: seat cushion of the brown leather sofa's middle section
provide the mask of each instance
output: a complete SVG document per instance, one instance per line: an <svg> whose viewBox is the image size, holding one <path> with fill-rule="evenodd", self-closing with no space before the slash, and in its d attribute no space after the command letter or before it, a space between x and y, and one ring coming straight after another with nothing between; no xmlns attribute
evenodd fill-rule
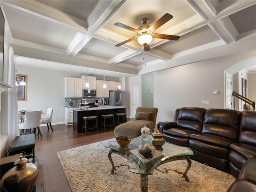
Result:
<svg viewBox="0 0 256 192"><path fill-rule="evenodd" d="M216 146L221 146L224 148L228 148L231 143L233 143L233 140L223 138L216 135L210 135L210 134L190 134L190 138L199 140L205 143L213 144Z"/></svg>

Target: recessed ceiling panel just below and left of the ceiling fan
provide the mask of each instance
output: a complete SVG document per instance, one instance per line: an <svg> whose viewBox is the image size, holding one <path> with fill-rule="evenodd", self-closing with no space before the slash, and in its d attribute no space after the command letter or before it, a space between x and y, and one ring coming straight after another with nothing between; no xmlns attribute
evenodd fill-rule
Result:
<svg viewBox="0 0 256 192"><path fill-rule="evenodd" d="M92 38L79 53L104 59L111 59L126 50L127 49L124 47L116 47L115 44L108 43L97 38Z"/></svg>

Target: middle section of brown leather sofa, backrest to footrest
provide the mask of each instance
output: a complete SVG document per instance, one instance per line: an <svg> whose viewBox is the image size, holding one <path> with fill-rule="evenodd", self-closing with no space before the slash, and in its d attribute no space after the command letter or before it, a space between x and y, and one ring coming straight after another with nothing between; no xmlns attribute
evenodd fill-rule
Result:
<svg viewBox="0 0 256 192"><path fill-rule="evenodd" d="M229 109L208 109L201 133L190 134L192 158L225 172L228 169L229 146L238 142L240 112Z"/></svg>

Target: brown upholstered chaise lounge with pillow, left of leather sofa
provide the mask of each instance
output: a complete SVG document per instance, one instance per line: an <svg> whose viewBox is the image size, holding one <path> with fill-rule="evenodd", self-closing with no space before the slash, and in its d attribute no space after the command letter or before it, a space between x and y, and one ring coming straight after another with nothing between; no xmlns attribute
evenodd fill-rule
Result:
<svg viewBox="0 0 256 192"><path fill-rule="evenodd" d="M136 138L141 135L140 129L144 127L145 124L150 128L150 131L153 131L156 126L157 112L157 108L138 107L134 120L116 126L114 129L115 136L130 136L131 138Z"/></svg>

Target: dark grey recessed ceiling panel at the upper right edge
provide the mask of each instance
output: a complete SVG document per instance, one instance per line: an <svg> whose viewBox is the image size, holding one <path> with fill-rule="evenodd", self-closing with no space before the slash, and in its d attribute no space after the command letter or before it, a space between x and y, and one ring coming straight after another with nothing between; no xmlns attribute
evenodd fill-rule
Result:
<svg viewBox="0 0 256 192"><path fill-rule="evenodd" d="M229 18L240 34L256 29L256 5L233 13Z"/></svg>

